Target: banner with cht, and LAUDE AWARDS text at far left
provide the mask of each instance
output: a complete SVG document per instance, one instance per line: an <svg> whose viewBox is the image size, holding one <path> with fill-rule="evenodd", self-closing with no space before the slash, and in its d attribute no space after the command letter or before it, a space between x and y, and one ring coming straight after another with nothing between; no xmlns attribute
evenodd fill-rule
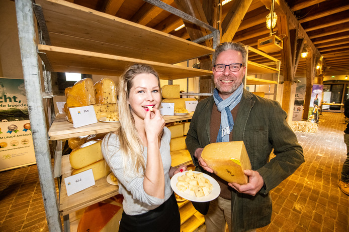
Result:
<svg viewBox="0 0 349 232"><path fill-rule="evenodd" d="M24 80L0 78L0 171L36 163Z"/></svg>

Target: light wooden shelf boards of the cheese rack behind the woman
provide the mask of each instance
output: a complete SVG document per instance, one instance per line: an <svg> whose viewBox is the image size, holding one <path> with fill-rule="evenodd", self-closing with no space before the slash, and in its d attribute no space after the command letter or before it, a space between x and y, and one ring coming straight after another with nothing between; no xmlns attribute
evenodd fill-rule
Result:
<svg viewBox="0 0 349 232"><path fill-rule="evenodd" d="M47 71L76 72L120 76L125 67L134 63L148 64L159 73L160 79L174 80L212 75L212 71L187 68L177 63L211 55L214 49L162 33L105 13L84 8L62 0L36 0L37 21L44 44L38 44L38 53ZM191 119L193 113L184 116L164 116L165 122ZM48 135L50 140L115 131L120 123L98 122L79 128L56 115ZM173 165L191 163L189 152L173 154ZM64 229L68 230L69 215L78 222L78 211L118 193L118 187L107 183L105 178L96 185L78 193L66 194L64 178L71 173L68 156L61 164L61 189L59 212L64 217ZM56 167L55 167L56 169ZM200 226L199 215L190 201L181 203L184 231ZM75 218L76 217L76 218ZM187 220L188 219L188 220ZM67 225L67 226L66 226Z"/></svg>

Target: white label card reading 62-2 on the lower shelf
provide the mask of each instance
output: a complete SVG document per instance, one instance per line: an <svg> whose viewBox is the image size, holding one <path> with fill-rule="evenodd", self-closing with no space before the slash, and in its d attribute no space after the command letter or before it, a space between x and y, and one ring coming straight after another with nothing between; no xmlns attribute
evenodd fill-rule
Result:
<svg viewBox="0 0 349 232"><path fill-rule="evenodd" d="M67 195L70 196L85 188L95 185L95 178L92 169L77 173L64 178Z"/></svg>

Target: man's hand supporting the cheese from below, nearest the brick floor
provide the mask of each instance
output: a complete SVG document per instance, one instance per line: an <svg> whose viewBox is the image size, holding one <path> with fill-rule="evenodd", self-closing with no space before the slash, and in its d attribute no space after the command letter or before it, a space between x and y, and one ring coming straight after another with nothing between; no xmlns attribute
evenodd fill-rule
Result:
<svg viewBox="0 0 349 232"><path fill-rule="evenodd" d="M263 177L257 171L244 170L245 175L249 176L247 184L228 183L236 191L254 196L264 185Z"/></svg>

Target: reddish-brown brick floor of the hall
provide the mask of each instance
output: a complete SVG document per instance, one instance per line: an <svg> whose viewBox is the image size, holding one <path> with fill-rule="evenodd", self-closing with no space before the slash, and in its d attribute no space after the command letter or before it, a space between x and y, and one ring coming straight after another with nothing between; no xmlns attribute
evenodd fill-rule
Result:
<svg viewBox="0 0 349 232"><path fill-rule="evenodd" d="M305 163L271 191L264 231L349 231L349 196L338 188L346 158L341 113L323 112L315 133L296 132ZM36 165L0 172L0 231L48 231Z"/></svg>

